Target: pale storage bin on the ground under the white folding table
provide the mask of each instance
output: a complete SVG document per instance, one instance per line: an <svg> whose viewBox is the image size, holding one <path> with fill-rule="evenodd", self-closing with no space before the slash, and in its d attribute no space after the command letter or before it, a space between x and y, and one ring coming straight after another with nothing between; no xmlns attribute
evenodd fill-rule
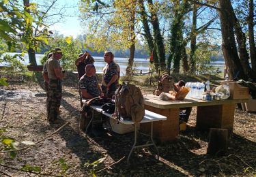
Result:
<svg viewBox="0 0 256 177"><path fill-rule="evenodd" d="M132 132L132 131L134 131L134 126L135 126L134 124L132 124L132 125L126 125L123 123L117 124L117 121L113 118L110 119L110 124L111 124L112 131L114 131L115 133L119 133L119 134ZM139 125L137 125L137 130L139 129Z"/></svg>

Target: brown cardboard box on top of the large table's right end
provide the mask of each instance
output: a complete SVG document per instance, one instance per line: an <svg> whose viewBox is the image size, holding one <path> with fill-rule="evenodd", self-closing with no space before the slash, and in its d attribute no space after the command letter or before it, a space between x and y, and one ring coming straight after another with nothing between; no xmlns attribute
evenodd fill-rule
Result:
<svg viewBox="0 0 256 177"><path fill-rule="evenodd" d="M249 88L242 86L236 81L222 81L222 85L227 84L230 90L230 99L248 99L249 98Z"/></svg>

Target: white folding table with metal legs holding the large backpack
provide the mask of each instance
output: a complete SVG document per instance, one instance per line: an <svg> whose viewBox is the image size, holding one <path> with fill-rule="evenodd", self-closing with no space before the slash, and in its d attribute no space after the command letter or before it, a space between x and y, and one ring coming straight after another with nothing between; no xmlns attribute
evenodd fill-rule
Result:
<svg viewBox="0 0 256 177"><path fill-rule="evenodd" d="M85 130L86 135L87 135L87 130L88 130L89 125L91 125L92 121L94 120L94 111L100 112L100 114L104 114L105 116L107 116L109 118L114 118L112 116L112 114L109 114L109 113L105 112L104 110L102 110L101 106L90 106L90 108L93 110L93 114L92 114L91 120L89 121L89 123L86 127L86 130ZM83 114L81 114L81 122L84 121L83 120L84 118L85 118L85 116ZM141 120L140 123L134 123L134 122L132 122L132 120L124 120L123 118L120 118L119 123L125 124L125 125L134 125L134 143L133 143L132 149L129 152L127 163L129 163L130 155L132 155L132 151L135 148L143 148L146 146L154 146L154 148L156 148L157 157L159 160L159 151L158 151L158 148L156 147L156 144L154 143L154 140L153 140L153 123L156 121L160 121L160 120L167 120L167 117L162 116L160 114L156 114L149 110L145 110L145 116L143 117L143 119ZM143 124L143 123L151 124L150 134L143 133L143 135L147 135L150 137L150 141L147 141L146 144L137 145L137 131L138 131L137 127L139 126L139 124Z"/></svg>

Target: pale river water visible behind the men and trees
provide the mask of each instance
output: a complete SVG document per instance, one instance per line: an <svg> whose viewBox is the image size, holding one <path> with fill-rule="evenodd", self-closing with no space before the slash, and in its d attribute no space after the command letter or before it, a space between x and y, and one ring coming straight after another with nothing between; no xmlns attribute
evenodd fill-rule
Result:
<svg viewBox="0 0 256 177"><path fill-rule="evenodd" d="M9 54L18 54L18 53L9 53ZM35 54L36 57L36 62L38 65L41 65L40 59L44 57L44 54ZM28 65L29 64L29 58L28 54L25 54L24 57L25 61L23 61L23 64ZM96 71L100 72L102 71L104 65L106 64L104 62L103 57L94 57L95 60L95 67ZM115 57L115 61L119 64L120 66L120 75L124 76L126 74L126 67L128 65L128 58L121 58L121 57ZM0 65L8 65L8 63L0 63ZM212 61L210 65L214 65L214 67L218 67L219 70L224 71L224 66L225 66L225 61ZM134 64L133 64L133 69L135 70L135 73L147 73L150 71L150 59L134 59Z"/></svg>

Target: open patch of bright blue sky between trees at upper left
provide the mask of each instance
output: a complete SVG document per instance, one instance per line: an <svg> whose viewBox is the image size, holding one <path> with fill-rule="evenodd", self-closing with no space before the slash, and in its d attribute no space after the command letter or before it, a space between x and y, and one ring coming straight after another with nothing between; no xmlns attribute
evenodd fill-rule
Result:
<svg viewBox="0 0 256 177"><path fill-rule="evenodd" d="M79 3L80 0L58 0L57 3L59 7L64 5L69 5L70 8L66 9L65 14L70 14L72 17L66 17L62 19L62 22L50 27L50 30L57 31L59 34L64 36L70 36L76 38L76 35L83 33L83 30L79 21ZM71 7L72 6L72 7Z"/></svg>

